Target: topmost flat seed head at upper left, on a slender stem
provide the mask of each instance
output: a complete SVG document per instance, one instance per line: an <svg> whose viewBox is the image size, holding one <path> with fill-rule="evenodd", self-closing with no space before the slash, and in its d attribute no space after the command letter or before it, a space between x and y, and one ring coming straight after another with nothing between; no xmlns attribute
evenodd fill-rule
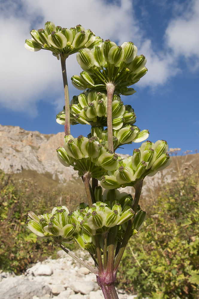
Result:
<svg viewBox="0 0 199 299"><path fill-rule="evenodd" d="M68 57L86 47L92 49L98 46L103 40L90 30L81 25L67 29L55 26L52 22L45 23L45 29L31 30L31 39L25 41L25 48L29 51L49 50L59 59L59 55Z"/></svg>

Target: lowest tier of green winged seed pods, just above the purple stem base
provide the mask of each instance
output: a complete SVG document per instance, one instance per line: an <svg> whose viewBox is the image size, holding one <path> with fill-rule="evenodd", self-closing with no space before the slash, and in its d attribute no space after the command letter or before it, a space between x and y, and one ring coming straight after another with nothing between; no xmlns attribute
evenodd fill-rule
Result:
<svg viewBox="0 0 199 299"><path fill-rule="evenodd" d="M128 220L132 219L135 212L132 210L133 199L130 194L120 193L115 190L115 200L110 200L110 190L105 190L102 195L102 188L95 188L96 203L89 207L81 203L77 210L69 213L66 206L57 206L51 213L35 215L28 212L28 228L40 238L53 237L64 243L76 241L82 249L96 254L95 239L99 235L101 248L104 248L102 235L114 227L115 246L121 242ZM145 219L145 212L136 211L131 235L138 232Z"/></svg>

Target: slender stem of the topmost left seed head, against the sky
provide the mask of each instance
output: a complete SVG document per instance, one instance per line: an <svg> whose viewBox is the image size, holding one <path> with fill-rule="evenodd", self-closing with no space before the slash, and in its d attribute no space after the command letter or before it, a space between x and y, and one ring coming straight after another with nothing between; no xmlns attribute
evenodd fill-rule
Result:
<svg viewBox="0 0 199 299"><path fill-rule="evenodd" d="M65 124L64 131L65 135L70 135L70 102L69 102L69 88L66 74L66 57L60 55L61 67L62 67L62 77L63 77L63 87L65 96Z"/></svg>

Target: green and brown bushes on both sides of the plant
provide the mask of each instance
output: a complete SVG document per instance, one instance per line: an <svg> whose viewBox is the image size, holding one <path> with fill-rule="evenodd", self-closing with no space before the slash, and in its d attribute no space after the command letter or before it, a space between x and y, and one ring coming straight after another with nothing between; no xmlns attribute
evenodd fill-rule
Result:
<svg viewBox="0 0 199 299"><path fill-rule="evenodd" d="M199 174L198 169L186 171L159 186L155 199L141 199L147 219L124 253L119 288L135 289L144 298L199 298ZM73 210L85 200L81 181L63 186L36 172L1 173L0 179L1 269L19 273L37 260L56 258L53 241L37 238L26 228L26 213L49 211L60 200ZM75 244L69 248L76 249Z"/></svg>

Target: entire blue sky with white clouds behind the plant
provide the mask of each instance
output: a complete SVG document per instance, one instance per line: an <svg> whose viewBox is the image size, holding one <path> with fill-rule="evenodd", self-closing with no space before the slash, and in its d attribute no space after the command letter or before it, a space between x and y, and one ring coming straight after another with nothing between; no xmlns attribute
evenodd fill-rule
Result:
<svg viewBox="0 0 199 299"><path fill-rule="evenodd" d="M148 73L122 96L136 113L136 125L148 129L148 140L166 140L169 148L199 152L199 0L1 0L0 1L0 124L56 134L64 91L60 61L50 51L30 52L25 39L32 29L51 21L71 28L81 24L96 36L121 45L133 41L147 58ZM70 82L81 68L76 54L67 59ZM88 125L71 128L86 136ZM132 155L140 144L120 153Z"/></svg>

